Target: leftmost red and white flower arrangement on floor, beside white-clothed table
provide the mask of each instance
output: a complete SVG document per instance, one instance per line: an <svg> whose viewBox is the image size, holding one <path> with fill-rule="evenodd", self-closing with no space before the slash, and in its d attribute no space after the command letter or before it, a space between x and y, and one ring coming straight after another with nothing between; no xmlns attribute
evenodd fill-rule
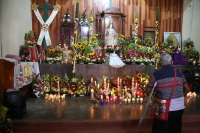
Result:
<svg viewBox="0 0 200 133"><path fill-rule="evenodd" d="M49 74L35 77L32 81L33 92L37 97L44 97L46 93L50 93Z"/></svg>

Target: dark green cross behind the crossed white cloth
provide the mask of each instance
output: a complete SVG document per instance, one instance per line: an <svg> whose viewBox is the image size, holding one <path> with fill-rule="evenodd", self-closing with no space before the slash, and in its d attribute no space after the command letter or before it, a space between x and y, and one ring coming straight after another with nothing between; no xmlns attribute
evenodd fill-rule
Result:
<svg viewBox="0 0 200 133"><path fill-rule="evenodd" d="M42 4L42 5L39 5L39 6L38 6L38 9L44 10L44 22L46 22L47 19L48 19L48 11L49 11L49 10L53 10L54 8L53 8L52 5L50 5L50 4L48 3L48 0L45 0L45 3ZM46 44L46 41L45 41L44 38L43 38L43 49L44 49L44 50L47 49L47 44Z"/></svg>

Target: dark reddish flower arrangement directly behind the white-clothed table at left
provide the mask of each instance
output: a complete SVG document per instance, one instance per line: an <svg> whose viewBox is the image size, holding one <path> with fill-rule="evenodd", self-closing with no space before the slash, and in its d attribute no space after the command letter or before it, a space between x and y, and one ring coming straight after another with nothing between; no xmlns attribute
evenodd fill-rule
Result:
<svg viewBox="0 0 200 133"><path fill-rule="evenodd" d="M31 56L29 52L29 47L21 45L19 48L19 57L21 58L21 61L30 61Z"/></svg>

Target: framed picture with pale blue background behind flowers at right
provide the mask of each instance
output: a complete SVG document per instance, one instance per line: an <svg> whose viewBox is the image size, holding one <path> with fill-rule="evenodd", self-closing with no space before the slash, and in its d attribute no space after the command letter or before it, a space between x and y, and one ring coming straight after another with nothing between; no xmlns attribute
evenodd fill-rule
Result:
<svg viewBox="0 0 200 133"><path fill-rule="evenodd" d="M180 32L164 32L164 40L167 40L168 38L172 39L177 46L179 45L180 48L182 48Z"/></svg>

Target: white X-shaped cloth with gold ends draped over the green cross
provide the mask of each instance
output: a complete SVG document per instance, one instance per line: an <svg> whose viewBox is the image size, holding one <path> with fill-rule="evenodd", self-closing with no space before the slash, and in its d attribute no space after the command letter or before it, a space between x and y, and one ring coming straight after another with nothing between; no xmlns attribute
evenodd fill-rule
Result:
<svg viewBox="0 0 200 133"><path fill-rule="evenodd" d="M45 38L47 46L52 45L51 38L49 35L49 25L52 23L53 19L55 18L56 14L58 13L58 11L60 11L61 6L56 3L56 5L53 6L53 8L54 8L54 10L51 13L50 17L44 22L44 20L42 19L41 15L40 15L39 10L38 10L38 5L36 5L35 3L31 5L31 10L34 11L40 24L42 25L42 29L40 31L40 35L39 35L39 38L37 41L38 45L42 45L43 38Z"/></svg>

